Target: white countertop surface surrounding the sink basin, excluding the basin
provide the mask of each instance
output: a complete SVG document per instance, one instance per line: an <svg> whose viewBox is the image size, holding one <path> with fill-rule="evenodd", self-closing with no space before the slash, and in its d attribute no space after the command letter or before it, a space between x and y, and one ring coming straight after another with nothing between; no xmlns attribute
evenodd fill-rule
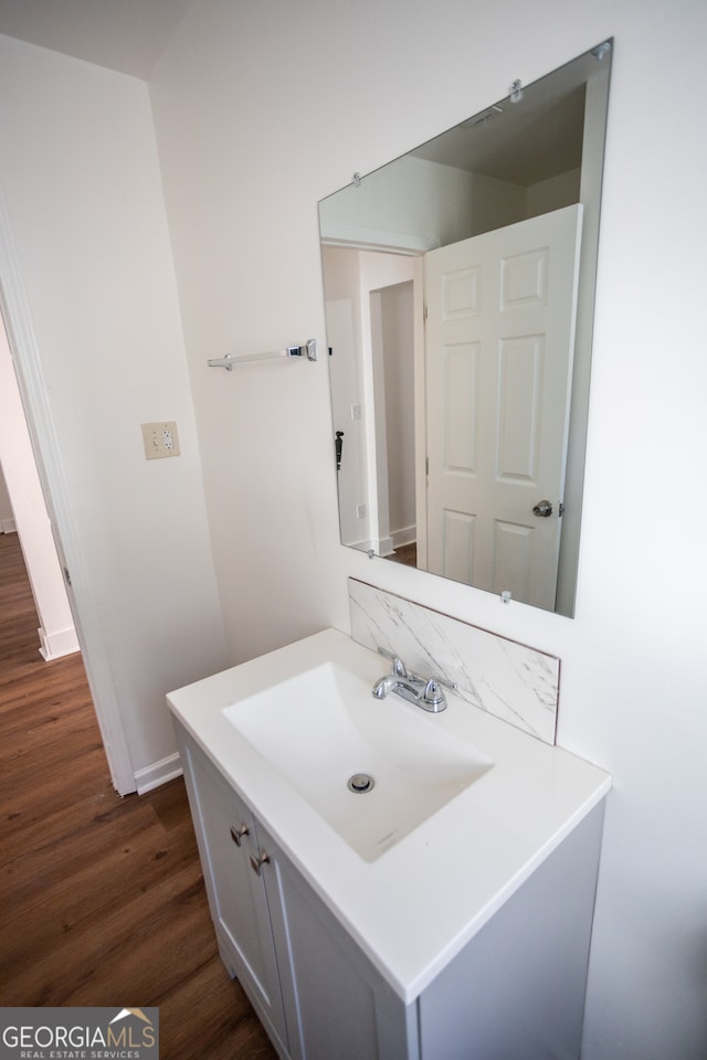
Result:
<svg viewBox="0 0 707 1060"><path fill-rule="evenodd" d="M453 692L439 714L405 704L494 766L377 860L365 861L223 713L325 660L355 666L371 686L388 669L376 653L326 629L171 692L168 702L393 989L411 1003L606 795L611 778ZM382 700L380 709L386 706Z"/></svg>

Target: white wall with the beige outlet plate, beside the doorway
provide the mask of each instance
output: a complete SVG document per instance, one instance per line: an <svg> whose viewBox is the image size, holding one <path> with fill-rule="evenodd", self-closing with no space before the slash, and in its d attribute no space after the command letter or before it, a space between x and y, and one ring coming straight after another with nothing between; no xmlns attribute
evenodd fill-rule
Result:
<svg viewBox="0 0 707 1060"><path fill-rule="evenodd" d="M60 534L99 644L92 689L99 711L115 698L148 784L175 764L165 693L226 651L147 87L0 38L0 189L71 497ZM180 457L145 460L156 420L177 421Z"/></svg>

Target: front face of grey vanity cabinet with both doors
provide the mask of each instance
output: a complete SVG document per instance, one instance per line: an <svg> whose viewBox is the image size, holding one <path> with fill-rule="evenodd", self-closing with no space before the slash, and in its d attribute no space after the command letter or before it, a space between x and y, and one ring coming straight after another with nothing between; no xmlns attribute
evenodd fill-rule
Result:
<svg viewBox="0 0 707 1060"><path fill-rule="evenodd" d="M411 1010L207 755L178 732L219 950L281 1056L416 1058Z"/></svg>

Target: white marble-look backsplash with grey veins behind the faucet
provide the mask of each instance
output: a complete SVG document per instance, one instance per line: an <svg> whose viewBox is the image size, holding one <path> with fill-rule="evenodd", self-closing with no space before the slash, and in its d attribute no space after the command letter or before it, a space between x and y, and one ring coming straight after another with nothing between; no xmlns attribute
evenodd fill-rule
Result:
<svg viewBox="0 0 707 1060"><path fill-rule="evenodd" d="M349 579L351 635L384 648L413 671L458 685L456 695L503 721L555 743L560 660ZM384 660L381 659L381 674Z"/></svg>

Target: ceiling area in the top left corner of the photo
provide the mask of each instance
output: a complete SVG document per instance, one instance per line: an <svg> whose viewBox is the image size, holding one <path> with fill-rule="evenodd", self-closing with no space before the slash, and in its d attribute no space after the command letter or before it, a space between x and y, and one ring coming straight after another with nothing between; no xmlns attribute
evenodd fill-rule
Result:
<svg viewBox="0 0 707 1060"><path fill-rule="evenodd" d="M0 33L146 81L192 0L0 0Z"/></svg>

